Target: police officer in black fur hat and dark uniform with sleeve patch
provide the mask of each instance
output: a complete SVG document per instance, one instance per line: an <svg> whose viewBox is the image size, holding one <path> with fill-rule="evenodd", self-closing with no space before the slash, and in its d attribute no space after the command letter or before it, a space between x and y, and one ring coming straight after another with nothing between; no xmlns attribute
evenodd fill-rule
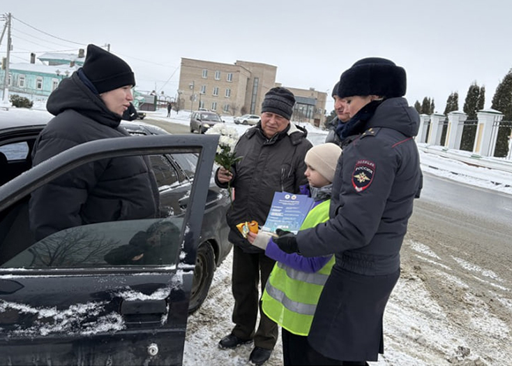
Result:
<svg viewBox="0 0 512 366"><path fill-rule="evenodd" d="M273 239L287 253L336 256L308 335L313 365L368 365L384 353L384 309L421 189L413 140L419 115L403 98L406 85L404 68L379 57L342 73L337 94L350 120L340 136L330 219Z"/></svg>

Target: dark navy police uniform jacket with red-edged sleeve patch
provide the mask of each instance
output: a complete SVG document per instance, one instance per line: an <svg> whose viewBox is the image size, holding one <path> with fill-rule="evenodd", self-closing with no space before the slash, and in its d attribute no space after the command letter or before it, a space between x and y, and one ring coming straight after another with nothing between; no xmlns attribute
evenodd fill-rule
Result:
<svg viewBox="0 0 512 366"><path fill-rule="evenodd" d="M418 129L419 115L407 100L389 98L364 133L347 139L336 167L331 219L298 233L303 256L336 253L336 266L365 275L400 268L400 247L421 186L413 140Z"/></svg>

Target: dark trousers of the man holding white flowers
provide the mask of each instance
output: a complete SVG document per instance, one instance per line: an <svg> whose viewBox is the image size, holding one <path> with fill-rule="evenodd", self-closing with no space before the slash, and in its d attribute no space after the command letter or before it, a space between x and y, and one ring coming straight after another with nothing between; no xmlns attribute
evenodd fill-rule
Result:
<svg viewBox="0 0 512 366"><path fill-rule="evenodd" d="M276 262L262 253L246 253L236 245L233 247L232 291L234 309L232 334L241 339L254 339L254 345L262 349L273 349L278 340L278 325L262 312L259 300L270 272ZM259 311L259 325L255 332Z"/></svg>

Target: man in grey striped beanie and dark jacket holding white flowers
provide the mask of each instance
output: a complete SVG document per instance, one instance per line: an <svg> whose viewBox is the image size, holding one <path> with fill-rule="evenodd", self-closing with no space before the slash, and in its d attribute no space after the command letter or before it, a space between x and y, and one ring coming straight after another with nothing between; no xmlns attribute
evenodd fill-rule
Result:
<svg viewBox="0 0 512 366"><path fill-rule="evenodd" d="M227 188L231 182L235 199L226 214L229 241L233 247L232 292L234 309L232 331L220 339L222 349L233 349L254 341L250 362L262 365L271 356L278 337L278 325L263 312L256 328L259 308L258 286L262 289L275 261L262 249L253 247L236 228L246 221L263 226L276 191L299 193L307 184L304 157L312 147L307 131L290 123L295 96L288 89L274 87L265 94L261 122L248 129L234 152L241 160L231 170L218 168L216 183ZM261 281L261 282L260 282ZM256 328L256 329L255 329Z"/></svg>

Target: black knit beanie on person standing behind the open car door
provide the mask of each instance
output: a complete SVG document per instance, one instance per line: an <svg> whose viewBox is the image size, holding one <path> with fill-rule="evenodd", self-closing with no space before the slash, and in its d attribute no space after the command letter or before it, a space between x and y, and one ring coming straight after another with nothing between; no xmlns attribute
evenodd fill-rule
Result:
<svg viewBox="0 0 512 366"><path fill-rule="evenodd" d="M96 45L87 46L82 66L86 78L91 80L98 94L120 87L135 87L135 75L125 61Z"/></svg>

